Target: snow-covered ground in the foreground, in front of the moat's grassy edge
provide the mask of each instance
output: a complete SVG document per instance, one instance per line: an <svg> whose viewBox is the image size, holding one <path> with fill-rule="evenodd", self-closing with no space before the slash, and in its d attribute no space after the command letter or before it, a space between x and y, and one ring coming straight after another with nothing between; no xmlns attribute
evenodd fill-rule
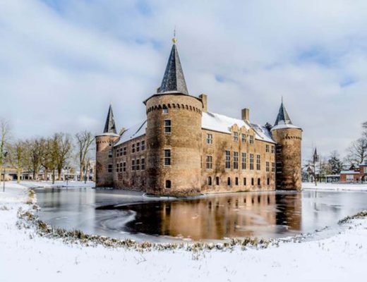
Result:
<svg viewBox="0 0 367 282"><path fill-rule="evenodd" d="M0 192L0 281L366 281L367 219L339 235L267 249L199 253L83 247L16 226L28 190Z"/></svg>

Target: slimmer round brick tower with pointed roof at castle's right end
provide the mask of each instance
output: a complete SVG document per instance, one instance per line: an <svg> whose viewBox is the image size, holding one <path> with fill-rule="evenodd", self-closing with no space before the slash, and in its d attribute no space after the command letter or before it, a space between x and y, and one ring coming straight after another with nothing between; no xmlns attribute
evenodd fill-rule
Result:
<svg viewBox="0 0 367 282"><path fill-rule="evenodd" d="M275 125L271 129L272 138L277 142L276 188L279 190L301 190L301 142L302 129L291 123L284 107L280 105Z"/></svg>

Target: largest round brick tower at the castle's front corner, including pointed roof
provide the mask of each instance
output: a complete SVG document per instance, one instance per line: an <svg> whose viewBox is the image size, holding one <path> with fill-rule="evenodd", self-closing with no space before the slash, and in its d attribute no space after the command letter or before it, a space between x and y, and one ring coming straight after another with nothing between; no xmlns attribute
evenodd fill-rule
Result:
<svg viewBox="0 0 367 282"><path fill-rule="evenodd" d="M203 102L188 94L175 43L161 87L145 101L147 187L155 195L200 192Z"/></svg>

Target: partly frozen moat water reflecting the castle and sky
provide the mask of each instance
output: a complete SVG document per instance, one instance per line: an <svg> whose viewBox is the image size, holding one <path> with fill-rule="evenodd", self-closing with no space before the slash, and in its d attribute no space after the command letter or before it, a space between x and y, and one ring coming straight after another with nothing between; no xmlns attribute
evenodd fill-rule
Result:
<svg viewBox="0 0 367 282"><path fill-rule="evenodd" d="M158 200L138 192L36 189L47 223L115 238L167 241L281 238L336 227L367 209L367 192L244 192Z"/></svg>

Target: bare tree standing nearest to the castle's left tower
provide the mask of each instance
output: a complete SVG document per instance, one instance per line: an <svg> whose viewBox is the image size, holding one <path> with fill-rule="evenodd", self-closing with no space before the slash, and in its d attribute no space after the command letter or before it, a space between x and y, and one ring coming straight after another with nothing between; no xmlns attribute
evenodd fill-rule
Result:
<svg viewBox="0 0 367 282"><path fill-rule="evenodd" d="M88 158L88 154L92 149L93 141L95 137L93 137L90 131L82 131L80 133L76 133L76 146L78 149L78 161L79 161L79 169L80 169L80 181L83 180L83 177L87 177L88 168L90 159ZM85 179L86 180L86 179Z"/></svg>

